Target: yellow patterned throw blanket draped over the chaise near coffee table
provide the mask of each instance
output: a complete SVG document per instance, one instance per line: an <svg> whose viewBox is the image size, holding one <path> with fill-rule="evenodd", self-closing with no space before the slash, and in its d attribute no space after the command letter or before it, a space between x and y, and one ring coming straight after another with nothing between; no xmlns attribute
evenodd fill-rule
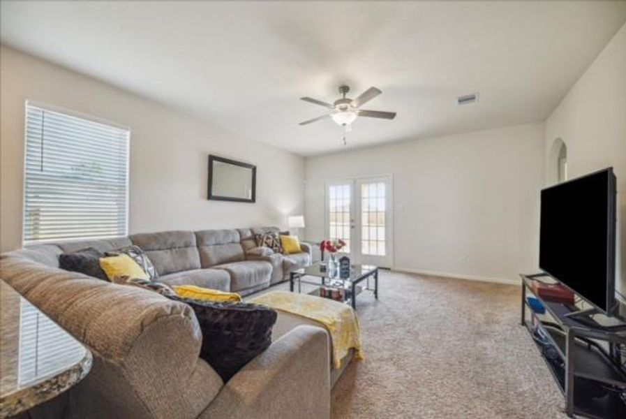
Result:
<svg viewBox="0 0 626 419"><path fill-rule="evenodd" d="M264 304L276 310L310 318L328 330L332 342L332 362L335 369L341 368L341 360L355 349L355 360L363 359L361 328L357 314L341 302L314 295L274 291L255 297L250 302Z"/></svg>

